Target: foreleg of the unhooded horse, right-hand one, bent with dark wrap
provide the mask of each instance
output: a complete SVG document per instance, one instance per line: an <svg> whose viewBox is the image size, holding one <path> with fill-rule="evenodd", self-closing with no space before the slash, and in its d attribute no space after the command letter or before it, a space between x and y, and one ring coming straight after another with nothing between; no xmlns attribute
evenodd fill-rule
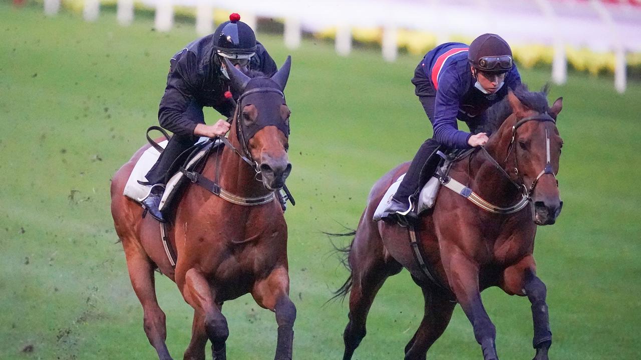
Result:
<svg viewBox="0 0 641 360"><path fill-rule="evenodd" d="M547 289L536 275L534 258L528 256L517 265L504 271L503 290L509 294L526 295L532 304L534 323L533 347L537 350L534 360L547 360L547 350L552 345L550 320L545 303Z"/></svg>

